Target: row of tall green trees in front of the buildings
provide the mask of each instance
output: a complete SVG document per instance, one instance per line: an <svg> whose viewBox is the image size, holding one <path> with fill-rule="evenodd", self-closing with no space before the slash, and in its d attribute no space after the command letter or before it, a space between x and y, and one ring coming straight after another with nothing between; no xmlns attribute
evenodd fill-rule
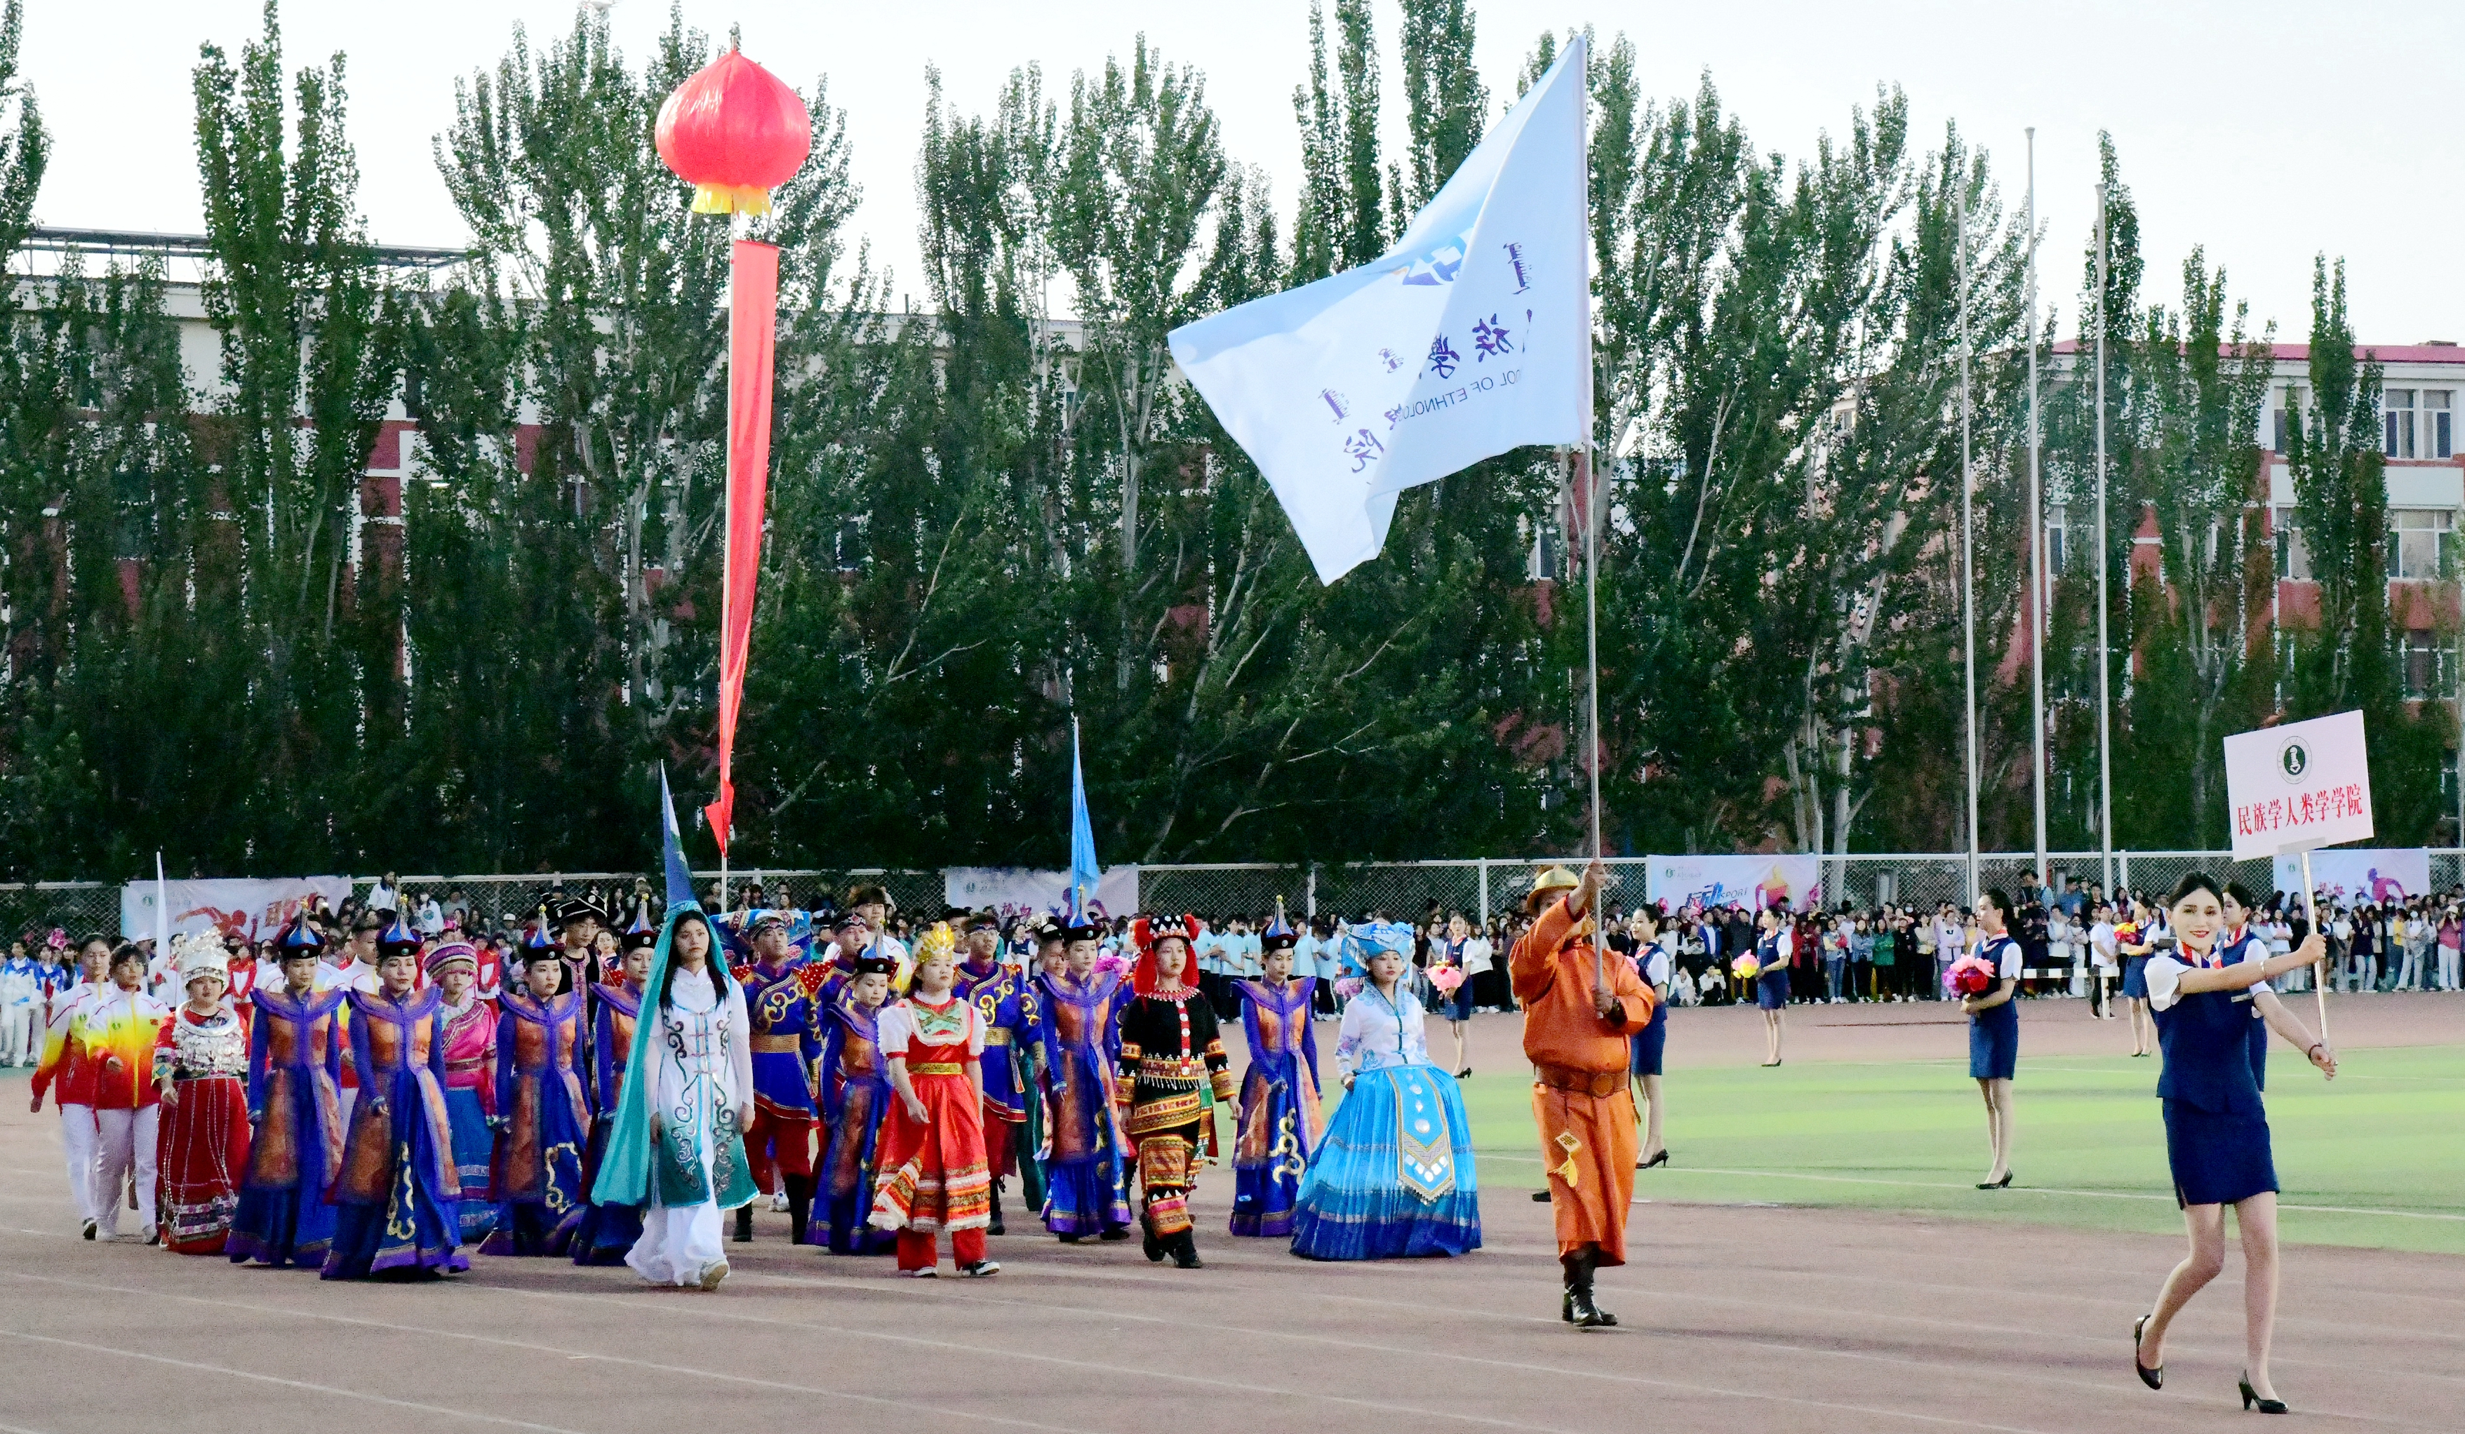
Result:
<svg viewBox="0 0 2465 1434"><path fill-rule="evenodd" d="M0 15L10 261L47 136L15 86L17 2ZM1516 91L1575 34L1541 34ZM1371 5L1314 7L1306 44L1289 229L1205 76L1144 39L1050 91L929 74L922 303L895 310L848 237L821 79L813 158L769 217L685 209L653 116L712 47L675 15L638 59L589 10L542 47L515 30L434 143L468 259L389 271L343 59L286 71L266 7L195 71L219 362L182 370L160 266L71 254L0 288L0 877L121 875L153 848L214 872L651 860L658 764L688 806L710 786L742 237L779 246L781 298L740 865L1053 865L1072 724L1112 860L1578 845L1578 466L1518 451L1415 488L1385 554L1319 586L1171 370L1176 325L1378 261L1496 118L1467 0L1403 5L1398 153ZM1979 825L2024 845L2031 237L1987 155L1950 126L1920 140L1883 89L1792 160L1708 74L1652 99L1624 37L1587 52L1610 840L1967 840L1967 355ZM2384 835L2421 840L2450 724L2403 695L2391 628L2418 614L2391 609L2379 372L2342 269L2320 271L2288 453L2320 621L2280 655L2253 441L2273 333L2199 251L2179 303L2145 301L2110 145L2103 165L2113 264L2080 303L2108 340L2103 549L2098 333L2039 355L2073 552L2053 840L2095 840L2100 562L2127 843L2223 840L2218 739L2342 707L2371 719ZM365 480L394 402L417 424L399 527Z"/></svg>

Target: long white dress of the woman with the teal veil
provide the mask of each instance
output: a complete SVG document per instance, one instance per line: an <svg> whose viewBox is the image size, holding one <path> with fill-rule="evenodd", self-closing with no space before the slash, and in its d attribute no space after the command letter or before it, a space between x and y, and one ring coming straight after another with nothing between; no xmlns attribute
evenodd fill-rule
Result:
<svg viewBox="0 0 2465 1434"><path fill-rule="evenodd" d="M638 1030L634 1040L656 1042L651 1074L661 1131L693 1131L703 1180L717 1190L710 1114L735 1111L740 1131L752 1119L754 1052L747 1042L744 988L730 981L727 1005L720 1008L707 971L678 971L668 983L668 1003L658 1008L658 1023L643 1025L648 1030ZM703 1269L727 1262L717 1200L661 1205L656 1175L643 1195L641 1239L624 1257L634 1274L651 1284L700 1284Z"/></svg>

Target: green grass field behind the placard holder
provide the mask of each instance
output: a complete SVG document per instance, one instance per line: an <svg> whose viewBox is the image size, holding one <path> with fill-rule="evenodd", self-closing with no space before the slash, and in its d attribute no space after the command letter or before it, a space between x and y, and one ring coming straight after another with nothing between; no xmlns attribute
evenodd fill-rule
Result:
<svg viewBox="0 0 2465 1434"><path fill-rule="evenodd" d="M2465 1047L2342 1062L2322 1082L2270 1052L2283 1237L2465 1254ZM1684 1069L1664 1082L1671 1163L1639 1173L1634 1193L2179 1232L2154 1089L2154 1059L2021 1059L2016 1178L1989 1193L1974 1188L1984 1104L1962 1059ZM1528 1082L1474 1077L1464 1094L1484 1190L1536 1190Z"/></svg>

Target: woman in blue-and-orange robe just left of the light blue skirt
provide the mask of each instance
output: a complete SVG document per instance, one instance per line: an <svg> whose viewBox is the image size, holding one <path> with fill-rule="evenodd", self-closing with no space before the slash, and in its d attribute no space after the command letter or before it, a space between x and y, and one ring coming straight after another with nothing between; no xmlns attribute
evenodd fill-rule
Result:
<svg viewBox="0 0 2465 1434"><path fill-rule="evenodd" d="M1309 1020L1319 981L1294 976L1299 934L1274 922L1260 934L1260 981L1240 981L1250 1069L1240 1084L1240 1136L1232 1141L1232 1234L1292 1237L1302 1170L1326 1133L1319 1114L1319 1035ZM1435 958L1435 956L1432 956ZM1469 998L1469 981L1462 993Z"/></svg>

